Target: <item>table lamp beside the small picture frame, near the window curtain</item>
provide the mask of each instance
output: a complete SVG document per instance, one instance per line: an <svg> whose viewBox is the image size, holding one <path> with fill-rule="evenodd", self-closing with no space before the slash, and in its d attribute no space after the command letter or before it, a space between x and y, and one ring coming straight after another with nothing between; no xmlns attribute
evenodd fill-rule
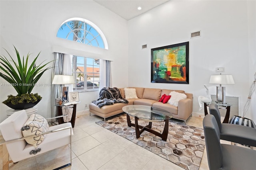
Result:
<svg viewBox="0 0 256 170"><path fill-rule="evenodd" d="M52 84L75 84L74 82L74 76L69 75L54 75L54 78L52 80ZM60 95L62 94L62 95ZM59 97L62 98L62 100L68 100L68 86L61 86L60 87L60 94Z"/></svg>

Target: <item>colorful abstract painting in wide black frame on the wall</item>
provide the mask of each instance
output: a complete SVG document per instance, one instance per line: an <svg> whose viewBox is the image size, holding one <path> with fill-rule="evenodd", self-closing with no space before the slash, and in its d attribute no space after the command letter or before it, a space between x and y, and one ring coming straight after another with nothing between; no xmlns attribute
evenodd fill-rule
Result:
<svg viewBox="0 0 256 170"><path fill-rule="evenodd" d="M189 84L189 42L151 49L151 82Z"/></svg>

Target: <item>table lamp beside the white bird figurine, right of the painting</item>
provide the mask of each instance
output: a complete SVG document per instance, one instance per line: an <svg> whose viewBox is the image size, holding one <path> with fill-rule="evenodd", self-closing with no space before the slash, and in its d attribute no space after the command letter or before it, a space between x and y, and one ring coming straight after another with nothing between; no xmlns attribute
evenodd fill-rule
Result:
<svg viewBox="0 0 256 170"><path fill-rule="evenodd" d="M212 75L210 77L209 83L220 84L220 86L216 86L216 92L217 92L216 102L226 103L226 87L223 87L222 84L235 84L233 80L233 76L230 74L229 75L227 74Z"/></svg>

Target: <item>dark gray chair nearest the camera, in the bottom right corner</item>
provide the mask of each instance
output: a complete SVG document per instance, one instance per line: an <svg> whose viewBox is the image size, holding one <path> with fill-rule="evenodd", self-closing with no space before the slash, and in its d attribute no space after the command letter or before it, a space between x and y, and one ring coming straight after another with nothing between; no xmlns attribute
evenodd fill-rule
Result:
<svg viewBox="0 0 256 170"><path fill-rule="evenodd" d="M203 120L210 170L255 170L256 150L220 143L220 130L213 115Z"/></svg>

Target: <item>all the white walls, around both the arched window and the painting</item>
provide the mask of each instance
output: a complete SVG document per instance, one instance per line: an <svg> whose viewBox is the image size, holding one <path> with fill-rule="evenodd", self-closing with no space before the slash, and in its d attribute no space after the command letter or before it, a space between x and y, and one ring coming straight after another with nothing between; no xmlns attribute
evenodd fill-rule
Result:
<svg viewBox="0 0 256 170"><path fill-rule="evenodd" d="M225 85L226 94L241 97L244 106L253 75L256 71L256 3L254 1L176 1L171 0L150 12L126 21L93 1L0 1L0 54L2 48L13 52L15 45L26 55L41 52L40 61L54 59L54 45L70 46L56 38L60 24L68 18L80 17L95 23L108 41L108 52L101 55L112 57L113 86L182 89L194 94L193 111L198 111L198 96L205 96L204 84L216 67L225 67L224 74L232 74L234 85ZM202 36L190 39L193 31ZM150 49L189 41L189 84L150 83ZM142 50L141 45L148 48ZM84 48L83 48L84 47ZM78 45L81 51L90 47ZM94 49L92 50L94 51ZM13 53L12 53L13 54ZM128 78L128 79L127 79ZM0 83L5 82L0 78ZM40 83L50 83L50 71ZM215 85L210 94L215 94ZM9 94L16 94L10 87L0 87L0 101ZM50 87L36 87L42 101L39 113L50 116ZM88 109L85 103L98 98L98 91L79 93L81 104L77 111ZM255 96L255 94L254 94ZM255 97L251 104L256 122ZM252 101L252 102L253 102ZM9 107L0 104L0 122ZM242 111L240 111L242 112Z"/></svg>

